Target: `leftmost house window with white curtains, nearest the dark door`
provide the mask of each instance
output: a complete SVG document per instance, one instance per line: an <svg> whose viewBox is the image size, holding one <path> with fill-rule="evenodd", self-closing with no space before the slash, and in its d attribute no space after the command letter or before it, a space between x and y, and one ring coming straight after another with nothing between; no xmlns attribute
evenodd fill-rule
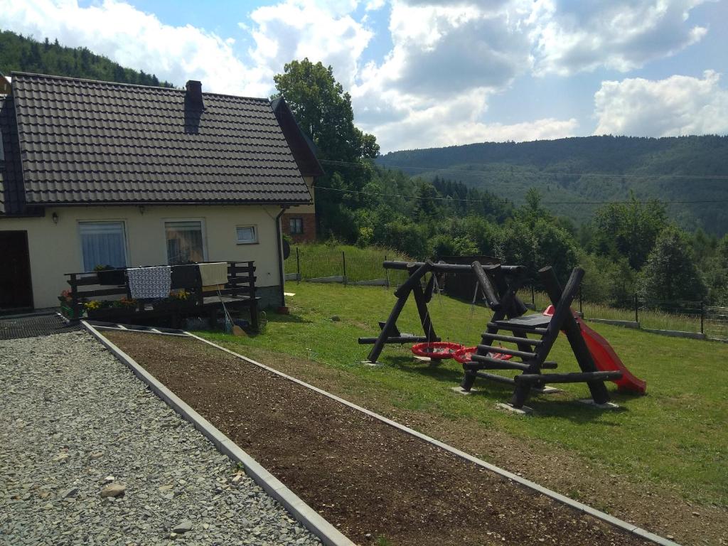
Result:
<svg viewBox="0 0 728 546"><path fill-rule="evenodd" d="M96 266L127 266L124 222L79 222L84 271Z"/></svg>

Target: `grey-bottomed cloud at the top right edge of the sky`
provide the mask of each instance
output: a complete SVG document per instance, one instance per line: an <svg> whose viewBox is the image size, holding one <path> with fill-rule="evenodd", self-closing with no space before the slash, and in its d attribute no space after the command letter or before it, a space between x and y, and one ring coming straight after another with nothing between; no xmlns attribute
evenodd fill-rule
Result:
<svg viewBox="0 0 728 546"><path fill-rule="evenodd" d="M684 50L708 29L689 13L708 0L537 0L529 19L537 74L626 72Z"/></svg>

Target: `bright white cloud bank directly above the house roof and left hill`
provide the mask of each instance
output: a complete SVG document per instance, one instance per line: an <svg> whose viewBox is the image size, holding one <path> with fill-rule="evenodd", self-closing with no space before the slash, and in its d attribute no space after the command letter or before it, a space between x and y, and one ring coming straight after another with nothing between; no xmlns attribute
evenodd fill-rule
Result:
<svg viewBox="0 0 728 546"><path fill-rule="evenodd" d="M0 12L5 28L88 47L176 85L199 79L206 91L241 95L259 95L266 89L259 72L234 55L229 41L191 25L165 25L122 1L104 0L84 8L76 0L5 0L0 1Z"/></svg>

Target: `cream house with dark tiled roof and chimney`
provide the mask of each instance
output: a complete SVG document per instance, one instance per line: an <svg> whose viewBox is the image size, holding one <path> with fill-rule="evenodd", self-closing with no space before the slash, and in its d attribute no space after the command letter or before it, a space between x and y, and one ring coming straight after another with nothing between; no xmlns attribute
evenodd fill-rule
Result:
<svg viewBox="0 0 728 546"><path fill-rule="evenodd" d="M268 99L13 73L0 132L0 311L57 306L65 273L186 261L254 260L281 304L280 218L318 164Z"/></svg>

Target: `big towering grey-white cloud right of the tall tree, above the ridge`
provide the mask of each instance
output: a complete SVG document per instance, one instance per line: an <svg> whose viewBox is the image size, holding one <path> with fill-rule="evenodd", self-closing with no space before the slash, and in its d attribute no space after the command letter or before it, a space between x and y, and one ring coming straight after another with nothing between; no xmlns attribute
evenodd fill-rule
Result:
<svg viewBox="0 0 728 546"><path fill-rule="evenodd" d="M488 96L529 70L529 43L518 28L529 15L522 5L395 0L392 50L381 64L368 63L352 87L357 122L376 135L384 151L523 140L529 128L533 132L526 138L573 130L554 120L518 126L481 121Z"/></svg>

